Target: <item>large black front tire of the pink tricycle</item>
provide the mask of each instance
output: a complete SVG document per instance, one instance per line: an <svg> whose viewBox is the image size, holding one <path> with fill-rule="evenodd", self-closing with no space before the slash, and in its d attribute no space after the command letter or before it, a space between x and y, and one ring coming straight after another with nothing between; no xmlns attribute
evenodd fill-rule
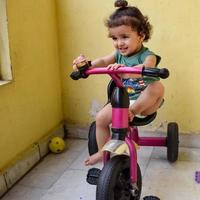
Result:
<svg viewBox="0 0 200 200"><path fill-rule="evenodd" d="M139 200L142 190L142 176L137 165L137 196L130 192L130 159L128 156L114 156L103 167L96 191L96 200Z"/></svg>

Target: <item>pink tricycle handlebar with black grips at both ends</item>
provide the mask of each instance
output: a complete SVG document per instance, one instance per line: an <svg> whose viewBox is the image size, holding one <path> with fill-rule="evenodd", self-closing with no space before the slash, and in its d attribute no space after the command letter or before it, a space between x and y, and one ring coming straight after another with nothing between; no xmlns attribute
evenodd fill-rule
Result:
<svg viewBox="0 0 200 200"><path fill-rule="evenodd" d="M117 70L100 68L88 68L88 65L82 66L79 71L74 71L70 74L73 80L80 78L87 78L91 74L141 74L142 76L160 77L166 79L169 76L169 71L166 68L152 68L152 67L120 67Z"/></svg>

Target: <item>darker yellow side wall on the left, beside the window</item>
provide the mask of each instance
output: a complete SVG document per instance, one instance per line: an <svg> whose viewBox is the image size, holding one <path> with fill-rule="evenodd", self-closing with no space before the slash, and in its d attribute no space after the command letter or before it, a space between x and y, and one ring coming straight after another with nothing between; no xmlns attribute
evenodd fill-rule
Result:
<svg viewBox="0 0 200 200"><path fill-rule="evenodd" d="M7 0L14 80L0 86L0 169L63 120L54 0Z"/></svg>

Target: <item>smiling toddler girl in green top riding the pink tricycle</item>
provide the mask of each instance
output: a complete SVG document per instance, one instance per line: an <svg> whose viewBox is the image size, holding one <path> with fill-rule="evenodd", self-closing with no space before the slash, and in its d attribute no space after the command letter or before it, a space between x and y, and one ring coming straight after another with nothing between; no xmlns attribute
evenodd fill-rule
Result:
<svg viewBox="0 0 200 200"><path fill-rule="evenodd" d="M109 55L97 58L91 62L92 68L107 67L116 70L123 66L145 66L156 67L160 57L143 46L151 35L151 25L148 17L134 7L128 6L127 1L117 0L118 7L106 21L109 37L113 40L115 51ZM85 56L80 55L73 61L73 68L76 65L87 61ZM129 120L135 115L149 115L155 112L162 100L164 87L158 78L141 77L134 74L121 75L124 85L127 87L130 102ZM102 160L102 147L110 137L109 125L112 120L112 107L107 104L97 113L96 116L96 139L99 151L85 160L85 165L93 165Z"/></svg>

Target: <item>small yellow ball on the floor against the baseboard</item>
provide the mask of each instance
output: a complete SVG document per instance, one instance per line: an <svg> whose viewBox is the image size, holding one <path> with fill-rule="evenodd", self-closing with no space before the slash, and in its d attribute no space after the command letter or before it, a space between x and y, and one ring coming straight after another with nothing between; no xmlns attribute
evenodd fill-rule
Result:
<svg viewBox="0 0 200 200"><path fill-rule="evenodd" d="M61 153L65 149L65 141L61 137L53 137L49 142L49 149L53 153Z"/></svg>

